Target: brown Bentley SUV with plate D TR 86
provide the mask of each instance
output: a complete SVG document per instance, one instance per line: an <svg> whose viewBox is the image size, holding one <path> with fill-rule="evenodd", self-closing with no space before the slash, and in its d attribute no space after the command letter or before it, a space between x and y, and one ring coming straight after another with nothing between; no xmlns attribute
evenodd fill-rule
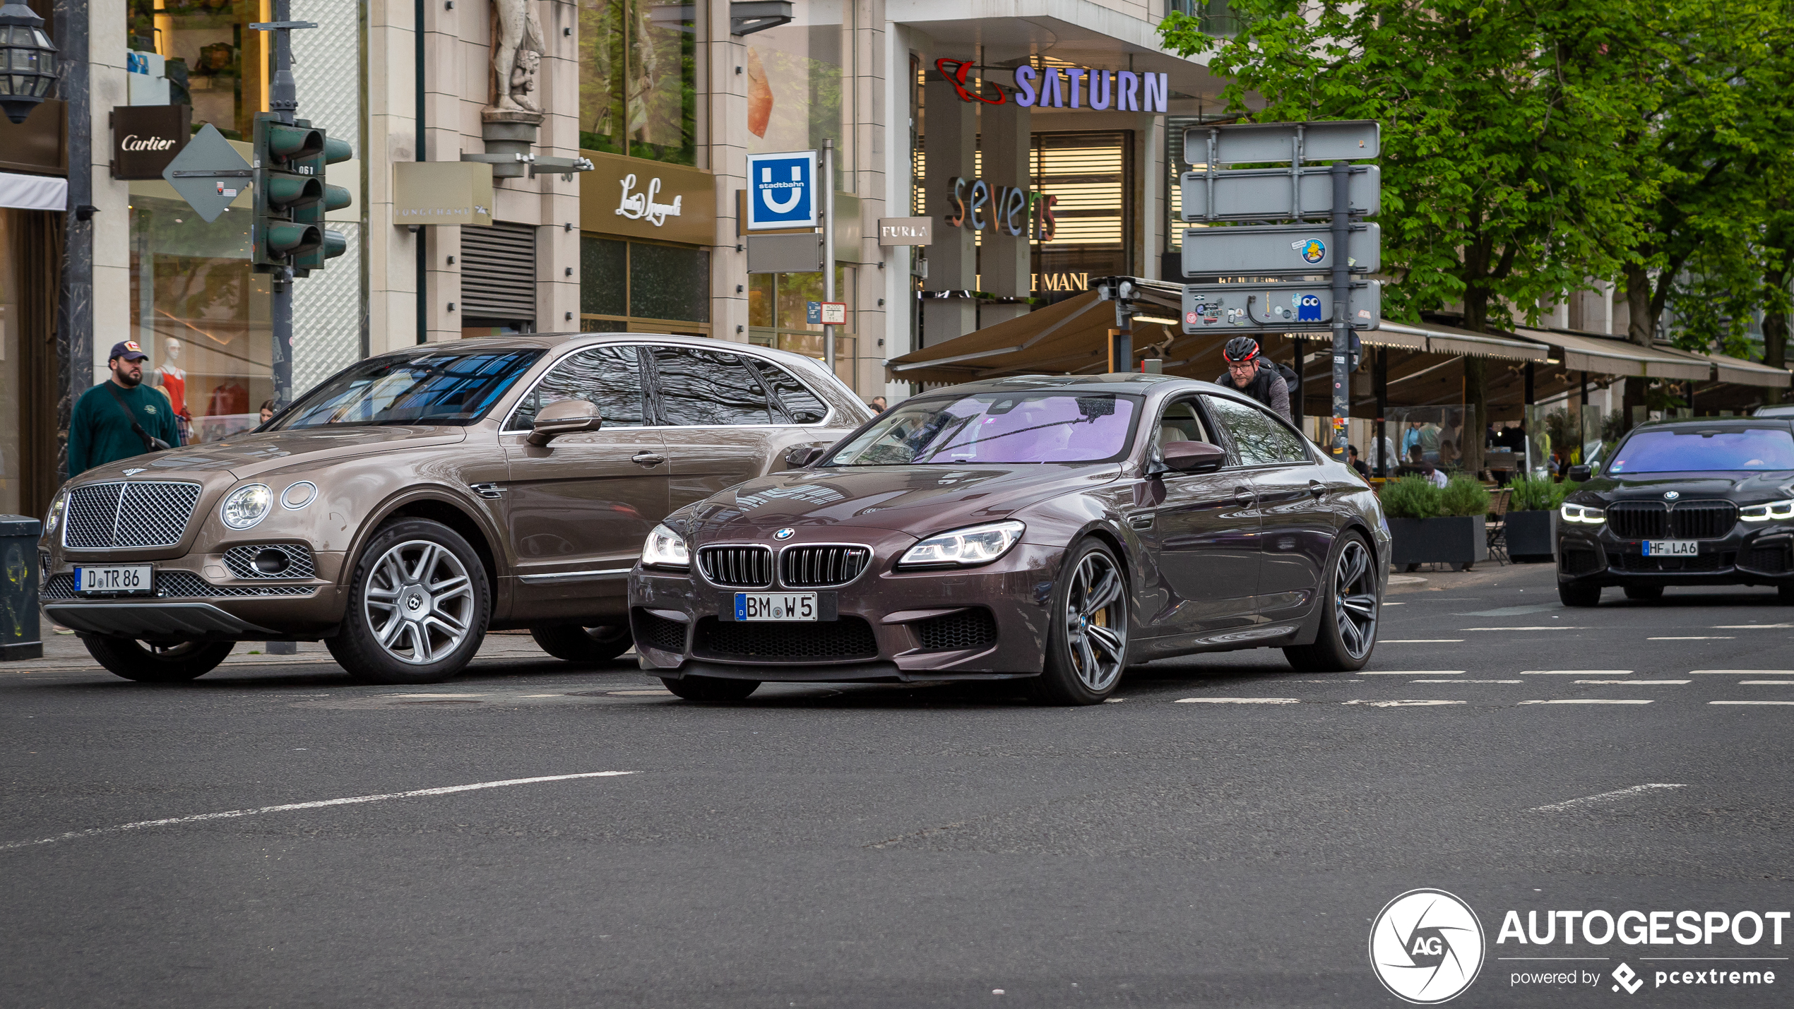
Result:
<svg viewBox="0 0 1794 1009"><path fill-rule="evenodd" d="M820 362L691 337L520 335L361 360L257 432L99 466L43 525L45 615L111 672L203 676L323 640L368 683L454 676L486 631L630 649L667 513L868 410Z"/></svg>

